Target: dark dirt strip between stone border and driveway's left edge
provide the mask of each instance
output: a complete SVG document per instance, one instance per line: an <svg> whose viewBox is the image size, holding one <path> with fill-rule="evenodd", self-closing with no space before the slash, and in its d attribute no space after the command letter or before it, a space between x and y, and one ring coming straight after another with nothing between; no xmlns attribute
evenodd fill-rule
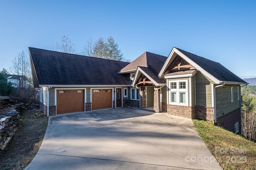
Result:
<svg viewBox="0 0 256 170"><path fill-rule="evenodd" d="M39 110L21 112L15 136L4 150L0 150L0 169L24 169L38 152L47 125L48 117Z"/></svg>

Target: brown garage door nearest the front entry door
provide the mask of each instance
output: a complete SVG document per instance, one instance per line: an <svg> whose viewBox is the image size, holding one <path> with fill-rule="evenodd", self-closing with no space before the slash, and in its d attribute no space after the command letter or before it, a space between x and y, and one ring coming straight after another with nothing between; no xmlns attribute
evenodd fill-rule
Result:
<svg viewBox="0 0 256 170"><path fill-rule="evenodd" d="M92 110L111 108L111 89L92 90Z"/></svg>

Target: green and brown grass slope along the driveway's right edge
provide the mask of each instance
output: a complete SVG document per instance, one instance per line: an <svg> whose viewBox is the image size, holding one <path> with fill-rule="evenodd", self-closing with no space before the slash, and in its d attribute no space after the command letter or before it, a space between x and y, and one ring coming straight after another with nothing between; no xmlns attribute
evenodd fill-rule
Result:
<svg viewBox="0 0 256 170"><path fill-rule="evenodd" d="M193 120L193 123L224 170L256 169L256 143L208 121Z"/></svg>

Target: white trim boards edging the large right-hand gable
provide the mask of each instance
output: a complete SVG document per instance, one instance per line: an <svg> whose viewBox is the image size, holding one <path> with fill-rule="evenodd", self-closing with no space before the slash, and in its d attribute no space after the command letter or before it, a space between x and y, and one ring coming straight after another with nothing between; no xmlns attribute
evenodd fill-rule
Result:
<svg viewBox="0 0 256 170"><path fill-rule="evenodd" d="M206 75L207 77L209 77L212 81L214 81L214 83L216 84L220 84L220 80L216 79L214 76L212 76L211 74L209 74L207 71L205 71L204 69L202 69L202 67L200 67L198 64L196 64L194 61L192 61L191 59L189 59L186 55L184 55L182 52L180 52L178 49L176 49L175 47L173 47L170 55L168 56L168 59L166 60L166 62L164 63L164 66L162 67L158 77L163 77L163 73L166 70L166 68L170 65L170 62L174 59L174 53L178 54L180 57L182 57L183 59L185 59L188 63L190 63L191 65L193 65L196 69L198 69L199 71L201 71L204 75Z"/></svg>

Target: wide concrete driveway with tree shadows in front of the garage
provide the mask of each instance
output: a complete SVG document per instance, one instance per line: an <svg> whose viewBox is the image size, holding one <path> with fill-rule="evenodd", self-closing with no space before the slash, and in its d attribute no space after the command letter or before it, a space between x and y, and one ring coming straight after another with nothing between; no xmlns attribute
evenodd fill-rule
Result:
<svg viewBox="0 0 256 170"><path fill-rule="evenodd" d="M25 170L222 169L192 120L120 108L49 118Z"/></svg>

